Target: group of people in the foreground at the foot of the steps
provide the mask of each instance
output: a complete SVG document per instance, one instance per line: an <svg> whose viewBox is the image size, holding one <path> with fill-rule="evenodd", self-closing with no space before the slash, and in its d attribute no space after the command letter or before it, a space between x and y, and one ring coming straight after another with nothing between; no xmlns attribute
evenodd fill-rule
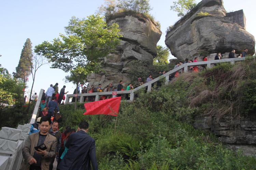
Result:
<svg viewBox="0 0 256 170"><path fill-rule="evenodd" d="M86 170L90 169L90 163L93 169L98 169L95 140L87 134L87 122L80 122L77 130L66 127L63 133L58 131L59 122L47 116L39 117L32 125L37 132L25 141L23 169L52 170L55 158L57 170Z"/></svg>

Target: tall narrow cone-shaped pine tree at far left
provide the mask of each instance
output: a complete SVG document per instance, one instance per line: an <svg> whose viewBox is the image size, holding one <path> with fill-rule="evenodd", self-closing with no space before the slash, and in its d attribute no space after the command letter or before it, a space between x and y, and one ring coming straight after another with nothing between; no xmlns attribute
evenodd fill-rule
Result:
<svg viewBox="0 0 256 170"><path fill-rule="evenodd" d="M32 43L28 38L23 46L22 53L20 54L19 64L16 67L16 73L13 75L16 79L21 79L25 84L31 74L30 63L33 60Z"/></svg>

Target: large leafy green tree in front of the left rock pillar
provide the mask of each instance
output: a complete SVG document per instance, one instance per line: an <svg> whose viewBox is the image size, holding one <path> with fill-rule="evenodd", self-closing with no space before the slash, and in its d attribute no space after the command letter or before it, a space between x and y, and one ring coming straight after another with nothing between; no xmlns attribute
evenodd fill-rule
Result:
<svg viewBox="0 0 256 170"><path fill-rule="evenodd" d="M100 59L119 44L121 37L118 24L108 26L99 15L90 15L87 19L72 17L65 30L67 35L60 34L52 43L44 41L35 47L35 52L52 62L52 68L70 71L76 82L84 81L88 73L97 73L101 68ZM86 76L79 77L80 72Z"/></svg>

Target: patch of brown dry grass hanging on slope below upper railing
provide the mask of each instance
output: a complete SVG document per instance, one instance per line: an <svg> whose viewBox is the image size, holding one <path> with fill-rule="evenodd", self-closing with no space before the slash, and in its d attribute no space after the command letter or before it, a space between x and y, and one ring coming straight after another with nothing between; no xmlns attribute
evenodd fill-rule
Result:
<svg viewBox="0 0 256 170"><path fill-rule="evenodd" d="M189 107L200 108L208 104L207 108L199 111L210 119L219 119L228 116L237 120L240 119L242 108L241 81L248 79L250 65L256 65L255 59L250 62L221 64L202 73L182 74L182 81L188 84L186 104ZM202 81L196 82L196 79ZM179 81L179 79L175 79ZM193 83L196 82L196 85Z"/></svg>

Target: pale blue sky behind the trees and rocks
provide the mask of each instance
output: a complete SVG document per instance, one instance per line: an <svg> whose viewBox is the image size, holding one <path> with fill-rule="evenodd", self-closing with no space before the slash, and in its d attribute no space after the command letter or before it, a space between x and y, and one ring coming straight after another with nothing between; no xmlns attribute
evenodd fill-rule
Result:
<svg viewBox="0 0 256 170"><path fill-rule="evenodd" d="M158 45L165 45L166 29L179 20L177 13L170 10L174 0L150 0L153 10L150 14L161 24L162 36ZM256 37L255 0L223 0L227 12L244 10L246 17L246 30ZM200 0L196 0L200 2ZM20 53L27 38L30 38L35 47L43 41L51 41L65 34L64 27L68 25L72 16L85 18L95 14L103 0L2 0L0 1L0 64L8 69L9 73L15 71ZM68 73L60 69L52 69L44 65L37 73L33 92L39 94L40 89L49 87L50 84L59 83L59 89L66 85L68 94L72 94L75 85L65 83ZM118 82L117 82L118 84ZM32 76L29 77L28 88L30 91Z"/></svg>

